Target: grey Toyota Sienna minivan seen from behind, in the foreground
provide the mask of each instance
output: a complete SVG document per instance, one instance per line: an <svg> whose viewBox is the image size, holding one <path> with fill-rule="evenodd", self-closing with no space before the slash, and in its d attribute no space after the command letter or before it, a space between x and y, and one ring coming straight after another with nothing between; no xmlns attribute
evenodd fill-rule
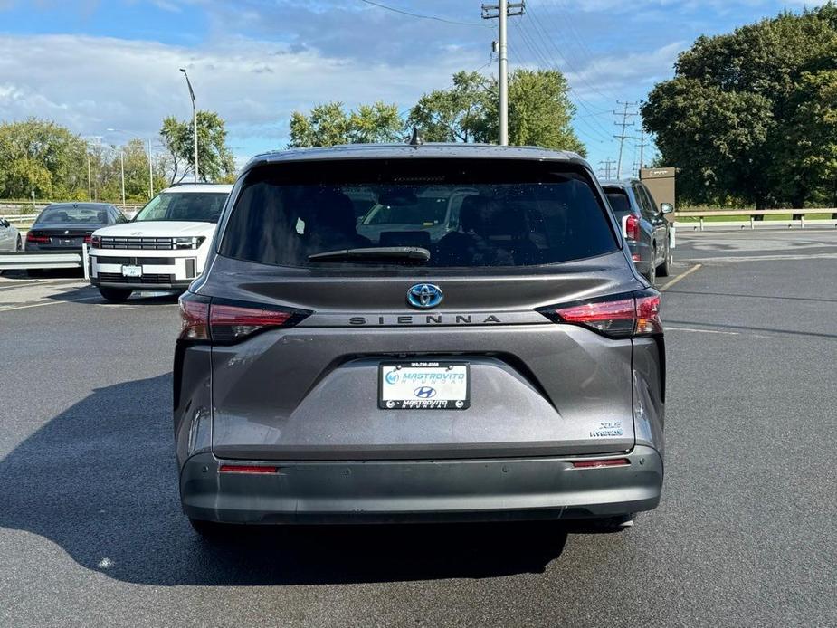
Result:
<svg viewBox="0 0 837 628"><path fill-rule="evenodd" d="M359 233L347 189L390 207ZM442 205L442 202L440 202ZM418 235L423 233L423 236ZM395 239L394 239L395 238ZM180 497L219 523L599 519L660 500L660 294L588 164L529 147L255 157L180 297Z"/></svg>

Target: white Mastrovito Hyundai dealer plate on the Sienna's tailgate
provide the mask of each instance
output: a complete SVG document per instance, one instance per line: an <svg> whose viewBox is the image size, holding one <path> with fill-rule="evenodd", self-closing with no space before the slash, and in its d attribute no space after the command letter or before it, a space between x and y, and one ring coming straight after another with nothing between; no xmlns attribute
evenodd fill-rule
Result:
<svg viewBox="0 0 837 628"><path fill-rule="evenodd" d="M378 379L383 410L465 410L471 405L464 362L385 362Z"/></svg>

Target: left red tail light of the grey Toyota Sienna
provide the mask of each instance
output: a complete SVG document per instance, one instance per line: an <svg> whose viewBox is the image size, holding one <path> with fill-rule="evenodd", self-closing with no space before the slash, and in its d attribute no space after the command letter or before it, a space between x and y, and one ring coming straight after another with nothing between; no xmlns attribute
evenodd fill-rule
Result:
<svg viewBox="0 0 837 628"><path fill-rule="evenodd" d="M233 343L267 329L293 327L308 315L300 309L210 300L185 292L180 298L180 338Z"/></svg>

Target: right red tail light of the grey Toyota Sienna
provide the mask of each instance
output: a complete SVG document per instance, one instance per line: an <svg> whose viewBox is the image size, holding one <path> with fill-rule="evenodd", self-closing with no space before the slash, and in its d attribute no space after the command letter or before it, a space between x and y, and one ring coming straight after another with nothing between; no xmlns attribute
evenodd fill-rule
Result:
<svg viewBox="0 0 837 628"><path fill-rule="evenodd" d="M556 323L580 325L609 338L662 333L660 293L657 290L640 290L538 311Z"/></svg>

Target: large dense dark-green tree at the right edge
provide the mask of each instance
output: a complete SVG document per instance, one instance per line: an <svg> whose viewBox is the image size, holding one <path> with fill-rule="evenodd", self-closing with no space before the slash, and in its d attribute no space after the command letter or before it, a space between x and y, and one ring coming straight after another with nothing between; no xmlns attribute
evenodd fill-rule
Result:
<svg viewBox="0 0 837 628"><path fill-rule="evenodd" d="M692 203L803 206L837 171L837 8L700 37L642 106Z"/></svg>

